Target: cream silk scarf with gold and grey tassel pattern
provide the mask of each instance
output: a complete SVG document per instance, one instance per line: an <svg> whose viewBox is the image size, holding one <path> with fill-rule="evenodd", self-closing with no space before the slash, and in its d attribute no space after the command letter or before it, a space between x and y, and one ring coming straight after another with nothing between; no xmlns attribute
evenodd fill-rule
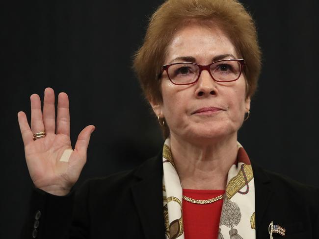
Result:
<svg viewBox="0 0 319 239"><path fill-rule="evenodd" d="M165 238L184 239L183 189L172 158L169 139L166 139L163 146L163 172ZM253 171L248 155L239 143L237 161L228 171L219 222L218 239L228 238L256 238Z"/></svg>

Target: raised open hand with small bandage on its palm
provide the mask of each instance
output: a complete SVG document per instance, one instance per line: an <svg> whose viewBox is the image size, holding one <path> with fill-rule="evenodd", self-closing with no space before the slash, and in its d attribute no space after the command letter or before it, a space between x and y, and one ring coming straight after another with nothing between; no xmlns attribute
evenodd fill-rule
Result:
<svg viewBox="0 0 319 239"><path fill-rule="evenodd" d="M22 111L18 113L18 121L31 179L36 188L54 195L66 195L77 182L86 162L86 150L95 127L86 126L72 150L68 95L58 95L56 128L53 89L44 91L43 112L38 95L33 94L30 100L31 128ZM44 138L33 140L34 134L44 131Z"/></svg>

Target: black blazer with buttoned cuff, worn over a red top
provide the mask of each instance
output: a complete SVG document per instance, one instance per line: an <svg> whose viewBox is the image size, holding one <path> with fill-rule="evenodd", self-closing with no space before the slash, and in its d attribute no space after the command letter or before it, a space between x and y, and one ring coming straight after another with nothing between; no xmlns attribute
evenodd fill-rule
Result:
<svg viewBox="0 0 319 239"><path fill-rule="evenodd" d="M268 225L286 228L286 239L319 239L319 189L252 162L256 238ZM131 171L84 183L76 193L54 196L35 189L23 239L164 239L161 155ZM281 236L274 234L274 239Z"/></svg>

